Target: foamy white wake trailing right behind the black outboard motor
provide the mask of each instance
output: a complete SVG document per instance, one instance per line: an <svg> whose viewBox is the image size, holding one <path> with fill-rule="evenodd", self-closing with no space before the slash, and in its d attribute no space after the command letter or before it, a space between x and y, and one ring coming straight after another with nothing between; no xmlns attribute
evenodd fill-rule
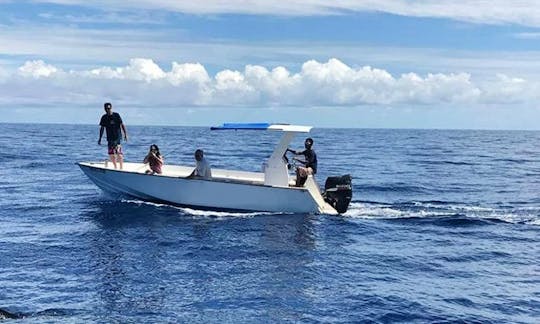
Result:
<svg viewBox="0 0 540 324"><path fill-rule="evenodd" d="M455 202L352 202L344 216L366 219L470 218L540 225L540 207L483 207Z"/></svg>

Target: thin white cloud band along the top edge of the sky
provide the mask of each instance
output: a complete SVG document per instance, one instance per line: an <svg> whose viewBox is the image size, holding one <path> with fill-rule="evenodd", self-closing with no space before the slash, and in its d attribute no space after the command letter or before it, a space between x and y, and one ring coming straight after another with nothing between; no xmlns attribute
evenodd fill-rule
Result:
<svg viewBox="0 0 540 324"><path fill-rule="evenodd" d="M117 9L162 9L191 14L334 15L344 12L378 11L402 16L449 18L488 24L540 26L537 0L137 0L83 1L36 0L67 5Z"/></svg>

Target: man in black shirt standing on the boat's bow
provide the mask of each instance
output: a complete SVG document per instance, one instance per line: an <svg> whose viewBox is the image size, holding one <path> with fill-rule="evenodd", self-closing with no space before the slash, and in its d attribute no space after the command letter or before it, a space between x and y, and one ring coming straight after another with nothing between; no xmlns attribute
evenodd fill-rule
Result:
<svg viewBox="0 0 540 324"><path fill-rule="evenodd" d="M127 142L126 126L122 122L122 117L116 112L112 112L112 105L110 102L106 102L103 107L105 108L105 115L101 116L99 125L99 140L98 144L101 145L101 137L103 136L103 129L107 130L107 147L109 158L116 169L116 162L122 170L124 163L124 154L122 153L122 132L124 132L124 140Z"/></svg>

